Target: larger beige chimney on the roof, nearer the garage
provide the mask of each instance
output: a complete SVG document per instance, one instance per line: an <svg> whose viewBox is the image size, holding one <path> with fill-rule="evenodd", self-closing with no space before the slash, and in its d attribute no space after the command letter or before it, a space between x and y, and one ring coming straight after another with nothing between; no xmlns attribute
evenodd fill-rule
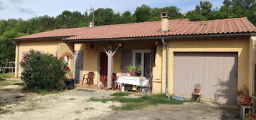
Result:
<svg viewBox="0 0 256 120"><path fill-rule="evenodd" d="M169 13L161 13L161 32L169 31Z"/></svg>

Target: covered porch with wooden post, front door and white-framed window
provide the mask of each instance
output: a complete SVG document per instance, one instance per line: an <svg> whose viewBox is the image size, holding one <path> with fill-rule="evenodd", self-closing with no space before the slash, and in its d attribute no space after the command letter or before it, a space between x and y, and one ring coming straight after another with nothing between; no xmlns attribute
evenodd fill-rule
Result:
<svg viewBox="0 0 256 120"><path fill-rule="evenodd" d="M155 40L94 41L74 43L74 78L83 87L91 88L85 81L86 74L93 72L94 87L101 82L105 89L113 89L113 73L125 76L127 66L141 66L141 76L148 79L152 87L153 67L156 66L156 52L159 49ZM158 55L159 56L159 55ZM86 85L85 85L86 84Z"/></svg>

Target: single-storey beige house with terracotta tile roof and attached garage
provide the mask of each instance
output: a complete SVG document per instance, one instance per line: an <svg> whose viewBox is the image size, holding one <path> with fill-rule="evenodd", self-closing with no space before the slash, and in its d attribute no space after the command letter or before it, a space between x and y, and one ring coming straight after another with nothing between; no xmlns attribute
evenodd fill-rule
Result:
<svg viewBox="0 0 256 120"><path fill-rule="evenodd" d="M247 18L213 21L169 20L55 29L11 39L16 44L16 77L22 53L34 49L67 56L77 83L95 73L94 83L111 88L109 74L118 76L130 64L141 65L153 93L191 96L195 84L202 97L237 102L237 89L255 94L256 27Z"/></svg>

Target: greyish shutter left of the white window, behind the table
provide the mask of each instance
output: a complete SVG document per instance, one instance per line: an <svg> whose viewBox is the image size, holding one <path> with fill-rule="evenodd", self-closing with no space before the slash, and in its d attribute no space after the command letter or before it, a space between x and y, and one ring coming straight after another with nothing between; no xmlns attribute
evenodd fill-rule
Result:
<svg viewBox="0 0 256 120"><path fill-rule="evenodd" d="M120 68L121 71L124 72L126 67L129 65L131 65L131 49L123 49Z"/></svg>

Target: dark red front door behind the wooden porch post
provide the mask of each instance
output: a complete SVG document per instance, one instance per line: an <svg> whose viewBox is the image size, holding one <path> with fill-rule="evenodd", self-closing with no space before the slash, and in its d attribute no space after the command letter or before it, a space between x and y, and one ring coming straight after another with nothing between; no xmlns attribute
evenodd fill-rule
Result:
<svg viewBox="0 0 256 120"><path fill-rule="evenodd" d="M105 52L100 53L100 81L108 85L108 55Z"/></svg>

